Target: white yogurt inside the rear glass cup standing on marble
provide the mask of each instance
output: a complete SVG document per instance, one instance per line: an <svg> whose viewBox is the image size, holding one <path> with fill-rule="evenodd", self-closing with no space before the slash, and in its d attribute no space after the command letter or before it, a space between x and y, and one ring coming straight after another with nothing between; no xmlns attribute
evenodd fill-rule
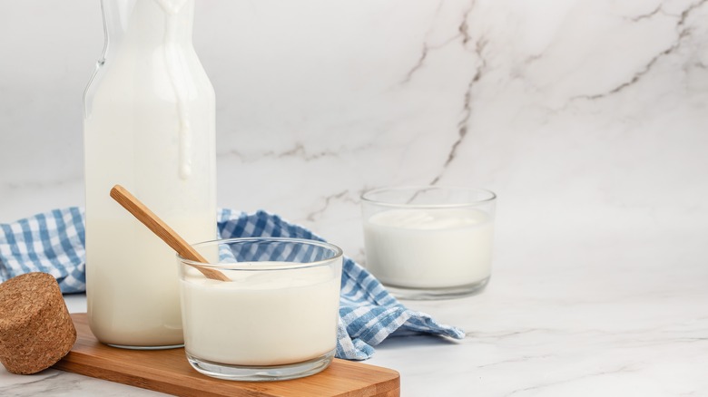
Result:
<svg viewBox="0 0 708 397"><path fill-rule="evenodd" d="M367 268L389 286L467 286L491 273L493 224L468 208L392 209L364 222Z"/></svg>

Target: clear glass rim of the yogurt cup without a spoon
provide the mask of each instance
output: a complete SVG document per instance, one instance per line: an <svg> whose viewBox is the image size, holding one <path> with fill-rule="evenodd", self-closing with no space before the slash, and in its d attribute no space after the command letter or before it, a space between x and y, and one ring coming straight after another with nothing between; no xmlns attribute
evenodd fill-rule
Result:
<svg viewBox="0 0 708 397"><path fill-rule="evenodd" d="M371 196L377 195L379 193L388 191L408 191L414 193L421 190L450 190L450 191L465 191L465 192L477 192L485 193L488 195L485 199L471 199L467 202L457 202L457 203L439 203L439 204L410 204L405 202L391 202L381 199L372 199ZM369 204L376 204L381 207L390 208L462 208L462 207L476 207L484 204L491 203L497 199L497 193L488 189L480 188L466 188L462 186L438 186L438 185L404 185L404 186L391 186L385 188L370 189L364 192L360 199L363 202Z"/></svg>

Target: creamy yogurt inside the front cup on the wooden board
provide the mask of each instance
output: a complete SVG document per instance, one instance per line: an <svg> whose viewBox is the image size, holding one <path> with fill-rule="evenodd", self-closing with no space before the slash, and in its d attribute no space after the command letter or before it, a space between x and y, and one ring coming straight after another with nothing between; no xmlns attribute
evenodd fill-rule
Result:
<svg viewBox="0 0 708 397"><path fill-rule="evenodd" d="M333 266L225 272L233 282L195 272L182 279L184 348L194 357L280 365L336 347L340 273Z"/></svg>

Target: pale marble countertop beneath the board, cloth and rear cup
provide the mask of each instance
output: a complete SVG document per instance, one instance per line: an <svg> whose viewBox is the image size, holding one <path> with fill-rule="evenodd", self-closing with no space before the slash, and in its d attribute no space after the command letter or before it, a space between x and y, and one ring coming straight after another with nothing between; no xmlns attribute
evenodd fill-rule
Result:
<svg viewBox="0 0 708 397"><path fill-rule="evenodd" d="M366 363L396 369L407 397L708 394L704 239L605 238L501 241L481 294L404 302L463 327L464 340L391 338ZM85 310L84 295L66 301ZM0 370L0 394L156 393L56 370Z"/></svg>

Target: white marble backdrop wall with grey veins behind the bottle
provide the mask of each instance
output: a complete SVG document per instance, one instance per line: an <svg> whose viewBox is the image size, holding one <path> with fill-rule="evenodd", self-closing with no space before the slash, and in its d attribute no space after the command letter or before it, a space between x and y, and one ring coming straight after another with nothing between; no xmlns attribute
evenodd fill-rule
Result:
<svg viewBox="0 0 708 397"><path fill-rule="evenodd" d="M484 187L516 239L708 237L708 5L198 0L219 205L361 258L359 195ZM98 0L2 1L0 222L83 205Z"/></svg>

